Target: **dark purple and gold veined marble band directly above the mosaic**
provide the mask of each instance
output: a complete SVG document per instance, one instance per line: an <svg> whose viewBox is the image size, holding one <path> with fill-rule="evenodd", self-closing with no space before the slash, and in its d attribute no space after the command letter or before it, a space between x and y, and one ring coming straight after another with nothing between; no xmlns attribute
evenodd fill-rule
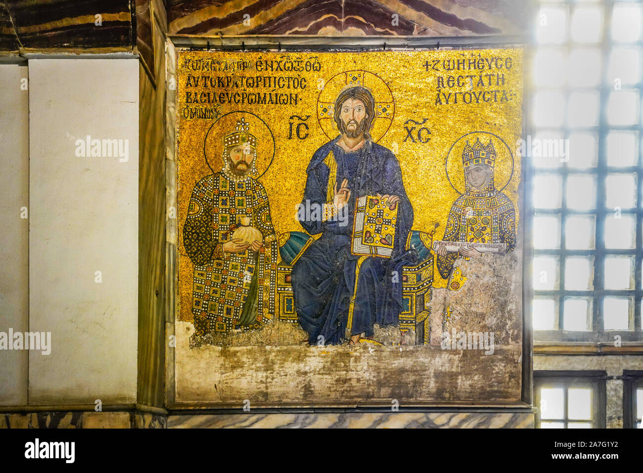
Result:
<svg viewBox="0 0 643 473"><path fill-rule="evenodd" d="M172 35L520 34L532 1L170 0Z"/></svg>

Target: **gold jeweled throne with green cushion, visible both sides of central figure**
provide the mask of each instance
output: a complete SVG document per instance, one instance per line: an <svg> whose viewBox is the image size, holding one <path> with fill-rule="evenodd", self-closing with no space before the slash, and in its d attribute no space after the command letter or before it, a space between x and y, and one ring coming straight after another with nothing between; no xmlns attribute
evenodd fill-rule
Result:
<svg viewBox="0 0 643 473"><path fill-rule="evenodd" d="M282 233L279 237L281 261L277 265L276 300L277 318L282 322L297 323L294 308L291 272L293 264L302 256L314 238L300 231ZM431 289L433 287L432 238L428 233L412 230L406 240L406 249L415 249L420 263L402 269L403 311L399 316L401 332L415 330L415 343L428 344Z"/></svg>

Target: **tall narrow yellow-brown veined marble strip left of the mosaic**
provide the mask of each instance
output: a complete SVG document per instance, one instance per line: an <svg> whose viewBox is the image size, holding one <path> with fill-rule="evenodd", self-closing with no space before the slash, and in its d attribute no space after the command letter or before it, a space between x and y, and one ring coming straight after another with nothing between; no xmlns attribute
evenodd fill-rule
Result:
<svg viewBox="0 0 643 473"><path fill-rule="evenodd" d="M138 2L137 2L138 3ZM138 402L163 406L165 371L165 12L154 3L152 70L140 61ZM153 48L153 49L152 49Z"/></svg>

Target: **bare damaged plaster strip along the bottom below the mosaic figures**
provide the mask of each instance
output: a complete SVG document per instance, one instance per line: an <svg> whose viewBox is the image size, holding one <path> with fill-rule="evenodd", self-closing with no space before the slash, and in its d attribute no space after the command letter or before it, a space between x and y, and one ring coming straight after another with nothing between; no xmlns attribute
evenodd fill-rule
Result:
<svg viewBox="0 0 643 473"><path fill-rule="evenodd" d="M419 406L518 403L521 346L215 346L190 348L194 326L174 324L176 402L218 407ZM493 405L493 404L490 404Z"/></svg>

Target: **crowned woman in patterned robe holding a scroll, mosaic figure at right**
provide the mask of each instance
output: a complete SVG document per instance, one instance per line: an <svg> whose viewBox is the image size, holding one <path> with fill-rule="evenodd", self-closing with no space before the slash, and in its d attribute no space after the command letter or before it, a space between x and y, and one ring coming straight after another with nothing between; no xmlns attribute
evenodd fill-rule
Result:
<svg viewBox="0 0 643 473"><path fill-rule="evenodd" d="M462 242L459 251L437 249L437 269L448 279L458 258L475 258L482 253L469 243L505 243L507 251L516 248L516 211L493 182L496 149L491 139L484 145L476 138L473 146L466 142L462 150L465 193L460 195L449 211L442 240Z"/></svg>

